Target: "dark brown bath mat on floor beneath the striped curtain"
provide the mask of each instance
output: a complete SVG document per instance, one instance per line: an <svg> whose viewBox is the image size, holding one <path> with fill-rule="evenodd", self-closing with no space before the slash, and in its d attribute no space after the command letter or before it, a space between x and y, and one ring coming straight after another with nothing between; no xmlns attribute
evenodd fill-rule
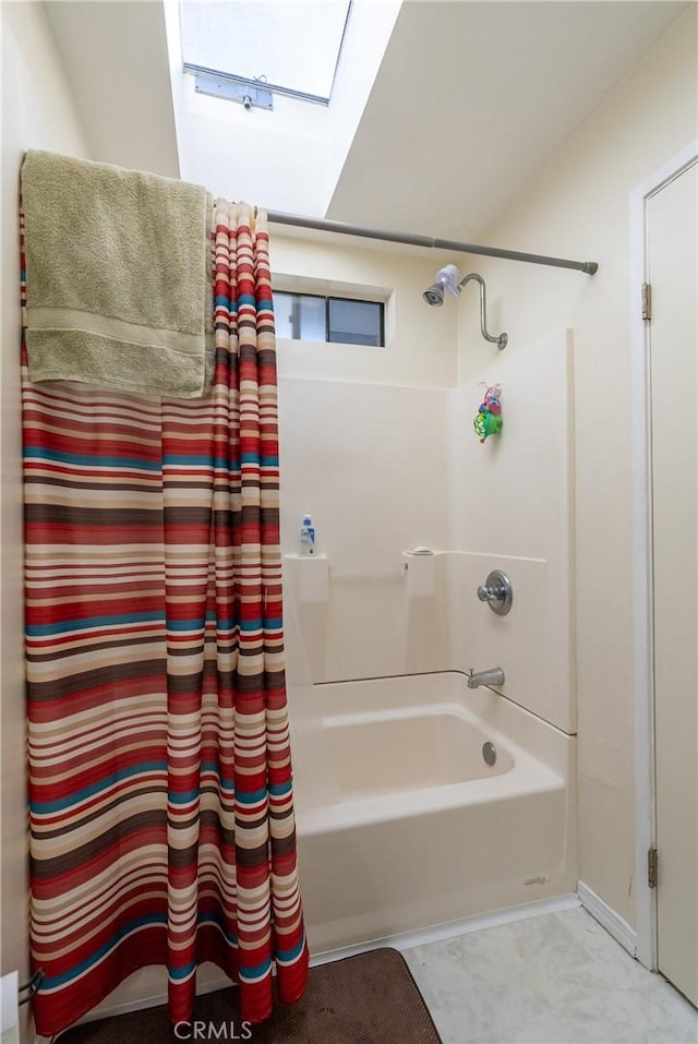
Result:
<svg viewBox="0 0 698 1044"><path fill-rule="evenodd" d="M246 1040L250 1044L441 1044L402 956L393 949L311 968L303 999L277 1007L262 1025L240 1022L237 989L231 986L197 997L192 1023L174 1032L163 1006L73 1027L57 1044L172 1044L178 1039Z"/></svg>

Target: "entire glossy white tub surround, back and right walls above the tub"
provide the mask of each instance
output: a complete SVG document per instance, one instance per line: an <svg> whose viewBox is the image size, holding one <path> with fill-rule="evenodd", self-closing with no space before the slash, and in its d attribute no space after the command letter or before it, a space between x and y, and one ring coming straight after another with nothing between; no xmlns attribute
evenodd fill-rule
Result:
<svg viewBox="0 0 698 1044"><path fill-rule="evenodd" d="M561 331L457 389L281 379L284 545L311 508L327 555L326 572L285 563L289 660L308 670L292 683L497 664L503 693L575 734L573 370ZM505 427L482 445L492 384ZM418 545L436 553L410 576ZM506 616L477 597L494 568L512 578Z"/></svg>

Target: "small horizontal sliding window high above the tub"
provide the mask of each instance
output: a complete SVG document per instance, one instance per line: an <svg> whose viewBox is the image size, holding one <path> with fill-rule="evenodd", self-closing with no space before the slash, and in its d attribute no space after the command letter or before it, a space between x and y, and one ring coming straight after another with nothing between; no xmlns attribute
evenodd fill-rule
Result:
<svg viewBox="0 0 698 1044"><path fill-rule="evenodd" d="M275 291L274 312L278 337L385 347L383 301Z"/></svg>

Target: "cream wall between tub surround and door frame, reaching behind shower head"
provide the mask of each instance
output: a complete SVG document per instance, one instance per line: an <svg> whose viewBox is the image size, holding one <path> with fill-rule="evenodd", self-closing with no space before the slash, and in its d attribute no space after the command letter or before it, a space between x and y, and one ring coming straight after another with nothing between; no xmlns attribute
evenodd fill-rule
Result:
<svg viewBox="0 0 698 1044"><path fill-rule="evenodd" d="M486 241L594 260L595 276L479 260L507 353L571 327L576 388L580 877L635 922L631 692L631 189L696 137L696 8L539 171ZM480 368L476 296L459 311L461 379ZM544 404L542 404L544 408ZM535 423L534 416L531 423ZM534 487L531 485L531 496Z"/></svg>

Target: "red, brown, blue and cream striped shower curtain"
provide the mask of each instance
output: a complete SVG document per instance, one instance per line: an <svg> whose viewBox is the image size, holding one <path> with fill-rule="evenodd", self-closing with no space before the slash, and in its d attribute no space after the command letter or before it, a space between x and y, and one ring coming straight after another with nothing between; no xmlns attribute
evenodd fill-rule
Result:
<svg viewBox="0 0 698 1044"><path fill-rule="evenodd" d="M37 1032L146 964L265 1019L308 974L284 676L263 215L218 201L204 399L32 385L23 346ZM24 264L23 264L24 268Z"/></svg>

